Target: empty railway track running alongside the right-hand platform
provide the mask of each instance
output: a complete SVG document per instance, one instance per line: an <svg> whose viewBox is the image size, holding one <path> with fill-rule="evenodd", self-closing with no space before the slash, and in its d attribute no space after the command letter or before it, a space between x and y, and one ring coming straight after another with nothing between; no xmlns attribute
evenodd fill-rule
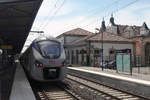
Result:
<svg viewBox="0 0 150 100"><path fill-rule="evenodd" d="M74 84L74 86L79 86L76 88L87 88L87 91L91 91L92 96L88 96L88 93L86 94L86 98L84 99L91 99L91 100L147 100L144 97L140 97L134 94L130 94L109 86L105 86L100 83L96 83L94 81L91 81L89 79L84 79L79 76L74 75L67 75L66 82L70 82L69 84ZM82 90L80 90L82 91ZM77 91L77 92L80 92ZM89 93L89 95L91 95ZM81 94L81 93L80 93ZM85 94L84 94L85 95ZM100 99L101 98L101 99Z"/></svg>

